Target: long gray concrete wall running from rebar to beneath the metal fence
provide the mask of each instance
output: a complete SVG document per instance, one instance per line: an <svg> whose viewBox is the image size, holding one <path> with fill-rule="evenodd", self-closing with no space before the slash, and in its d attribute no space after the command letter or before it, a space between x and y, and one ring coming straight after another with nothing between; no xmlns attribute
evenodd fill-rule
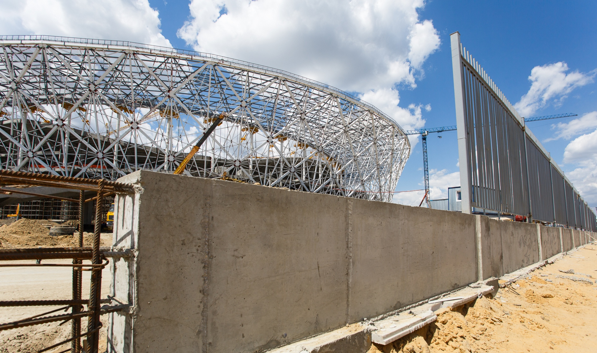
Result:
<svg viewBox="0 0 597 353"><path fill-rule="evenodd" d="M110 352L260 351L539 260L522 222L147 171L120 181L139 192L116 198L114 247L135 256L112 262L112 295L132 306L110 315ZM553 230L544 256L559 252Z"/></svg>

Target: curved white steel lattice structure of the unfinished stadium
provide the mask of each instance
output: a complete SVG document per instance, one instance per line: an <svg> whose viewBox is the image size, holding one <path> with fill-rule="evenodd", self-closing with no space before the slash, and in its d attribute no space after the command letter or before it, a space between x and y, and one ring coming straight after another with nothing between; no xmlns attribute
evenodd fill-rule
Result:
<svg viewBox="0 0 597 353"><path fill-rule="evenodd" d="M389 201L404 131L345 92L217 55L119 41L0 37L4 169L115 179L173 172Z"/></svg>

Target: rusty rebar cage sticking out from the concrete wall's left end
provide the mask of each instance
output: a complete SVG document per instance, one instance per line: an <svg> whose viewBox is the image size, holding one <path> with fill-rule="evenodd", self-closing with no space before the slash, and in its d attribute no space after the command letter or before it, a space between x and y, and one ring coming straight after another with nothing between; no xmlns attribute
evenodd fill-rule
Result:
<svg viewBox="0 0 597 353"><path fill-rule="evenodd" d="M58 309L42 312L33 317L23 318L11 323L0 323L0 330L17 329L19 327L45 324L55 321L67 323L71 321L72 329L69 339L63 340L54 345L38 351L38 353L50 351L54 348L70 343L70 348L61 351L79 353L84 348L86 353L97 353L99 348L99 330L101 329L100 315L107 312L126 309L129 305L116 302L111 304L109 298L101 298L101 270L108 264L110 257L128 257L130 253L110 252L110 248L100 248L101 213L104 209L103 200L115 193L131 194L134 189L131 185L118 182L104 181L102 179L84 179L67 176L54 176L47 174L31 174L25 172L0 171L0 186L30 185L30 186L51 186L67 188L79 191L79 234L78 247L36 247L32 249L0 249L0 267L23 267L36 266L47 267L72 267L72 298L71 299L47 299L33 301L0 301L1 306L57 306L66 305ZM95 197L85 199L84 192L93 191ZM19 193L19 190L11 188L11 192ZM24 191L27 193L27 191ZM70 200L70 199L68 199ZM93 246L83 247L83 218L84 203L97 201L99 207L95 208ZM14 263L15 260L38 260L36 264ZM72 264L51 264L42 263L47 259L73 259ZM91 263L83 263L83 260L90 260ZM82 271L91 271L90 293L88 299L82 299ZM87 310L84 309L87 306ZM66 314L54 314L57 311L70 310ZM87 331L81 333L81 318L87 317ZM85 337L85 347L81 345L81 339Z"/></svg>

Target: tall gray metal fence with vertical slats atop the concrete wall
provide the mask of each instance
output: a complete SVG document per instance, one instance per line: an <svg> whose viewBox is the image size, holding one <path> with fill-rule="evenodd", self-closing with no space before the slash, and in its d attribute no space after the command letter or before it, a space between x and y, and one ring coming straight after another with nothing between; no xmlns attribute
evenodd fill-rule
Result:
<svg viewBox="0 0 597 353"><path fill-rule="evenodd" d="M597 231L593 210L458 32L451 45L463 212L484 208Z"/></svg>

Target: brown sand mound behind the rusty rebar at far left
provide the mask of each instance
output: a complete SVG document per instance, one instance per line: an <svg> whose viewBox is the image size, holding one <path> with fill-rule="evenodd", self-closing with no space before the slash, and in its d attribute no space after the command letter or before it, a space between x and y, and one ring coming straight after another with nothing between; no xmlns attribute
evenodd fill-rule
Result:
<svg viewBox="0 0 597 353"><path fill-rule="evenodd" d="M11 247L76 247L78 233L75 236L50 236L50 230L42 224L51 223L37 219L21 218L10 225L0 227L0 249ZM102 234L100 246L109 246L111 234ZM83 246L92 246L93 233L83 233Z"/></svg>

